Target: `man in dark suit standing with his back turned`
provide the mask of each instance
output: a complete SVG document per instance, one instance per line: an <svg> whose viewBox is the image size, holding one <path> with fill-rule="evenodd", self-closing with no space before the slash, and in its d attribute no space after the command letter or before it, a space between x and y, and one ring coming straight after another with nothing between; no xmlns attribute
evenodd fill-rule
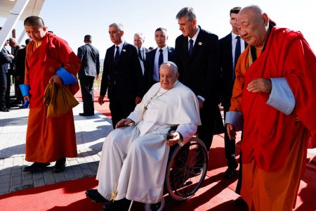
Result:
<svg viewBox="0 0 316 211"><path fill-rule="evenodd" d="M81 116L94 115L93 82L95 78L98 79L100 72L99 50L92 46L91 42L91 35L84 36L85 45L80 46L77 53L81 60L78 77L80 79L82 101L84 101L84 113L79 113Z"/></svg>

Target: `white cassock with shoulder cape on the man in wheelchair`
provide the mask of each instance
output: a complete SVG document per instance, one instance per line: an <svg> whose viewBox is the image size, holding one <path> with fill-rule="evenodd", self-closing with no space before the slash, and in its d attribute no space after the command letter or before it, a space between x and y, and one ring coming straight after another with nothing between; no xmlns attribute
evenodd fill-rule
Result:
<svg viewBox="0 0 316 211"><path fill-rule="evenodd" d="M169 90L157 83L128 118L135 125L114 129L103 143L98 192L107 200L157 203L169 156L166 133L172 125L179 125L183 142L195 134L201 124L197 97L178 81Z"/></svg>

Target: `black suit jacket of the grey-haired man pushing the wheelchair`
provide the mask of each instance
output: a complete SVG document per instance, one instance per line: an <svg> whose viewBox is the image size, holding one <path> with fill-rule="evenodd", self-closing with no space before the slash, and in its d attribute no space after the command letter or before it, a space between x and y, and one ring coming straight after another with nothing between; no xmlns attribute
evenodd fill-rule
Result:
<svg viewBox="0 0 316 211"><path fill-rule="evenodd" d="M200 27L192 55L189 56L188 39L176 39L175 61L180 73L179 81L210 103L219 103L220 76L218 37Z"/></svg>

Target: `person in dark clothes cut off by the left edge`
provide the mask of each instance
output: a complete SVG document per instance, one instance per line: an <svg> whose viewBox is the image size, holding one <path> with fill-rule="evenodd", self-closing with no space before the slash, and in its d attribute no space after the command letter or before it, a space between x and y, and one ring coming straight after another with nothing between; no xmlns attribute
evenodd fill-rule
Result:
<svg viewBox="0 0 316 211"><path fill-rule="evenodd" d="M8 112L6 107L6 89L7 89L7 78L8 64L12 62L13 55L11 55L6 48L2 48L0 51L0 111Z"/></svg>

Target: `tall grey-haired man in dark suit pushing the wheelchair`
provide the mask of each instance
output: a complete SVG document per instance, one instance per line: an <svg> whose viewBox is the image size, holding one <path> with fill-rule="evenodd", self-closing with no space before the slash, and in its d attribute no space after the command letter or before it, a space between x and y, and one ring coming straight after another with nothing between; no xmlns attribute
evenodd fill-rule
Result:
<svg viewBox="0 0 316 211"><path fill-rule="evenodd" d="M179 81L197 95L202 125L197 134L207 150L211 147L218 108L218 79L220 75L218 37L197 25L193 8L185 7L176 15L183 33L176 39L175 61ZM223 127L223 122L218 122Z"/></svg>

